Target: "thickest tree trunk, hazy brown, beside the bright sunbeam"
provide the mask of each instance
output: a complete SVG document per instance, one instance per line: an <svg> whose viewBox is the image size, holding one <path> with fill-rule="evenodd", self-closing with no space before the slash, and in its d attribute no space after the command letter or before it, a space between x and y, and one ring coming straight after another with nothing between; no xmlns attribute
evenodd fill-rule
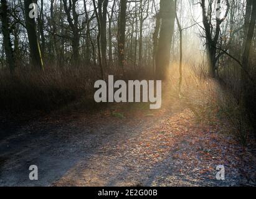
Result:
<svg viewBox="0 0 256 199"><path fill-rule="evenodd" d="M171 42L174 32L174 1L161 0L159 15L161 17L161 29L156 54L156 78L164 80L168 77Z"/></svg>

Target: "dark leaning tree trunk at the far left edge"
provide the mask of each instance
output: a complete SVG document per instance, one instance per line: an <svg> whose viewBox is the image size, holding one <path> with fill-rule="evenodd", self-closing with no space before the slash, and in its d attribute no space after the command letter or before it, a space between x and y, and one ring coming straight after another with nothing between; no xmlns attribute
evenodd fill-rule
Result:
<svg viewBox="0 0 256 199"><path fill-rule="evenodd" d="M9 30L9 17L7 14L7 3L6 0L1 0L1 7L0 7L0 17L2 22L2 35L3 35L3 42L4 42L4 50L6 52L6 60L9 65L9 70L12 73L15 68L14 63L14 53L12 50L12 44L10 39L10 30Z"/></svg>

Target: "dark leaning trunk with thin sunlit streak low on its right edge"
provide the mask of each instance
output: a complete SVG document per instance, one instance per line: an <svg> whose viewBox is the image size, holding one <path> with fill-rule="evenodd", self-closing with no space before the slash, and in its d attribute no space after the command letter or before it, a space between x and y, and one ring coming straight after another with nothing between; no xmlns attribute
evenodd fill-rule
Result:
<svg viewBox="0 0 256 199"><path fill-rule="evenodd" d="M24 1L26 29L27 29L27 37L29 39L30 55L31 55L32 65L34 65L34 67L36 68L39 68L40 70L44 70L44 64L43 64L42 55L39 47L39 40L37 39L36 22L34 18L29 17L29 12L31 11L31 9L29 8L29 5L32 3L35 3L35 1L34 0Z"/></svg>

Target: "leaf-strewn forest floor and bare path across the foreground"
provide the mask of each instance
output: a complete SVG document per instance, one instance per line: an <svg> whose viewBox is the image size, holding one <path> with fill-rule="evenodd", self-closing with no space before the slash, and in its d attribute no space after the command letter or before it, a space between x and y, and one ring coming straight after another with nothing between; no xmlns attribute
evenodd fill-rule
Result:
<svg viewBox="0 0 256 199"><path fill-rule="evenodd" d="M177 99L159 110L112 104L55 112L1 125L0 134L1 186L256 185L255 145L198 123ZM37 165L38 180L29 180L29 165ZM217 165L225 180L216 179Z"/></svg>

